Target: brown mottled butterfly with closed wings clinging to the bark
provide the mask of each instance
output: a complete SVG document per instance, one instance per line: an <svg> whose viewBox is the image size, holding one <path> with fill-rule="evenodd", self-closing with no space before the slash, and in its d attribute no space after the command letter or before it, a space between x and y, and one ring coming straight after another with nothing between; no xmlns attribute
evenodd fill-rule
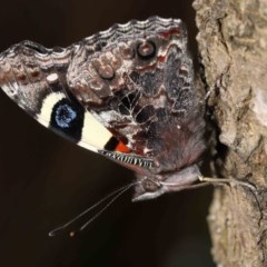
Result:
<svg viewBox="0 0 267 267"><path fill-rule="evenodd" d="M134 200L198 180L205 150L187 30L151 17L47 49L0 53L0 87L44 127L136 172Z"/></svg>

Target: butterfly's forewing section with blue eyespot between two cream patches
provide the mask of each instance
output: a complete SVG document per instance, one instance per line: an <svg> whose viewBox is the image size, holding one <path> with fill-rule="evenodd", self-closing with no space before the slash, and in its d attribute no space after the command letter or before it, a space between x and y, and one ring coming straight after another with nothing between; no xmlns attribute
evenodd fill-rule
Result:
<svg viewBox="0 0 267 267"><path fill-rule="evenodd" d="M14 44L0 55L0 86L44 127L97 152L112 135L69 90L66 75L76 48L47 49L31 41Z"/></svg>

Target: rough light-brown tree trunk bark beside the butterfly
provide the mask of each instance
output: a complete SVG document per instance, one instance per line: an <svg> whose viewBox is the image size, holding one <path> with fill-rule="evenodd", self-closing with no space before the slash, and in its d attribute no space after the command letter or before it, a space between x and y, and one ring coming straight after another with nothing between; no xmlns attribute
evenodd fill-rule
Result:
<svg viewBox="0 0 267 267"><path fill-rule="evenodd" d="M267 266L267 0L195 0L220 175L208 222L218 266Z"/></svg>

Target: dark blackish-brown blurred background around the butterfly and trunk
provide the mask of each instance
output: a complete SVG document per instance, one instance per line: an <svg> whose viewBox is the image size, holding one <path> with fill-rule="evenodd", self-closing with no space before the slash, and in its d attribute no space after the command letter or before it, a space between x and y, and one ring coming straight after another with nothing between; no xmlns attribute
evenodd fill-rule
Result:
<svg viewBox="0 0 267 267"><path fill-rule="evenodd" d="M115 22L181 18L196 58L191 1L1 1L0 50L24 39L70 43ZM48 233L134 179L131 171L46 130L0 91L0 266L215 266L211 188L131 204L125 194L75 238Z"/></svg>

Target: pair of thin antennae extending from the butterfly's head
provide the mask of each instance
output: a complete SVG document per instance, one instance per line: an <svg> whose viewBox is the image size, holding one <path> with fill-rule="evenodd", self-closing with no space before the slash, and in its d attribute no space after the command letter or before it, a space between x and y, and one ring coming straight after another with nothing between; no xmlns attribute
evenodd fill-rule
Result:
<svg viewBox="0 0 267 267"><path fill-rule="evenodd" d="M73 219L69 220L68 222L66 222L62 226L57 227L56 229L49 231L48 236L52 237L56 236L58 234L60 234L63 229L66 229L68 226L72 225L73 222L76 222L77 220L79 220L81 217L86 216L89 211L93 210L95 208L97 208L99 205L101 205L102 202L105 202L106 200L108 200L109 198L111 198L111 200L102 208L100 209L95 216L92 216L92 218L90 218L86 224L83 224L77 231L82 231L88 225L90 225L96 218L98 218L116 199L118 199L123 192L126 192L127 190L129 190L132 186L137 185L139 181L135 181L131 182L127 186L123 186L115 191L112 191L111 194L109 194L108 196L106 196L105 198L102 198L101 200L99 200L98 202L96 202L95 205L92 205L91 207L89 207L88 209L86 209L85 211L82 211L81 214L79 214L78 216L76 216ZM76 235L77 231L70 231L69 235L72 237Z"/></svg>

